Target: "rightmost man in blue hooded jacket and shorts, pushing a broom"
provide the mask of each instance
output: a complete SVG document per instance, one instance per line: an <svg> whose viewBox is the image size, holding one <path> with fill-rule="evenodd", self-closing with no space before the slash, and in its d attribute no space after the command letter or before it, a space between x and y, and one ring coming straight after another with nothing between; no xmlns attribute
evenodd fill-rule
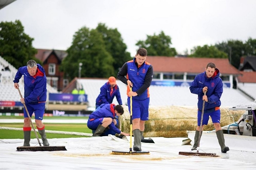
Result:
<svg viewBox="0 0 256 170"><path fill-rule="evenodd" d="M221 152L226 153L229 148L225 146L223 131L220 127L220 97L223 92L223 84L222 79L220 78L220 71L216 68L214 63L208 63L205 71L195 77L192 85L190 86L190 92L198 95L197 127L194 146L191 150L196 150L198 146L202 107L203 101L205 100L201 132L204 129L204 125L208 124L210 116L212 118L214 128L216 129L216 135L221 147ZM204 92L206 92L206 95L204 95Z"/></svg>

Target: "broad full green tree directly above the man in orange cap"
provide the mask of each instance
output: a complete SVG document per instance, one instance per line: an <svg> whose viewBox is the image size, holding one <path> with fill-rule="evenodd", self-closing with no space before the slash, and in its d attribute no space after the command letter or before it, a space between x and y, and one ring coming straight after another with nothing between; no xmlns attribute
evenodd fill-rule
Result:
<svg viewBox="0 0 256 170"><path fill-rule="evenodd" d="M82 77L109 77L114 75L114 62L106 50L102 34L96 29L82 27L73 36L68 56L62 61L60 69L66 78L72 80L78 76L79 63L82 63Z"/></svg>

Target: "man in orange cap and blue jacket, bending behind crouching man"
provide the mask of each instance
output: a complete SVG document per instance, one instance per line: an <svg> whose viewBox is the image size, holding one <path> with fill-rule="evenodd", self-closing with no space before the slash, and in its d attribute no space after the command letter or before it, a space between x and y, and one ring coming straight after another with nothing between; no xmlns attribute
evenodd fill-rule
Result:
<svg viewBox="0 0 256 170"><path fill-rule="evenodd" d="M110 78L108 78L108 82L106 82L100 88L100 94L96 98L96 109L101 104L111 104L115 96L118 104L122 105L122 99L121 99L119 87L116 84L116 78L111 76Z"/></svg>

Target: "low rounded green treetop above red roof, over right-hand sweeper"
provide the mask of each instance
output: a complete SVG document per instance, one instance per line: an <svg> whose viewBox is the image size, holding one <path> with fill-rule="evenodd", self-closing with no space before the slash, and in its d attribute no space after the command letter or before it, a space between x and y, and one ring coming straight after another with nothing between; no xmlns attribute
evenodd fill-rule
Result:
<svg viewBox="0 0 256 170"><path fill-rule="evenodd" d="M228 55L223 51L218 50L215 46L197 46L191 50L189 57L200 57L200 58L228 58Z"/></svg>

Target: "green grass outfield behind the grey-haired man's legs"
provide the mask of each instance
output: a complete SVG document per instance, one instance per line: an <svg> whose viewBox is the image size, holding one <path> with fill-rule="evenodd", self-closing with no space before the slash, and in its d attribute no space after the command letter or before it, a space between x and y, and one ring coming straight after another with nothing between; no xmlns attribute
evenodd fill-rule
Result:
<svg viewBox="0 0 256 170"><path fill-rule="evenodd" d="M24 119L23 116L0 116L0 119ZM44 119L88 119L88 117L78 117L78 116L54 116L54 117L44 117ZM33 120L33 117L32 117ZM36 128L36 123L33 123ZM92 133L86 123L44 123L46 130L51 131L68 131L68 132L81 132L81 133ZM23 123L0 123L0 127L14 127L22 128ZM39 133L38 133L39 135ZM86 137L80 135L65 135L56 133L46 133L48 139L53 138L71 138L71 137ZM39 135L40 137L40 135ZM33 128L31 131L31 139L36 138ZM23 139L23 131L21 130L8 130L0 129L0 139Z"/></svg>

